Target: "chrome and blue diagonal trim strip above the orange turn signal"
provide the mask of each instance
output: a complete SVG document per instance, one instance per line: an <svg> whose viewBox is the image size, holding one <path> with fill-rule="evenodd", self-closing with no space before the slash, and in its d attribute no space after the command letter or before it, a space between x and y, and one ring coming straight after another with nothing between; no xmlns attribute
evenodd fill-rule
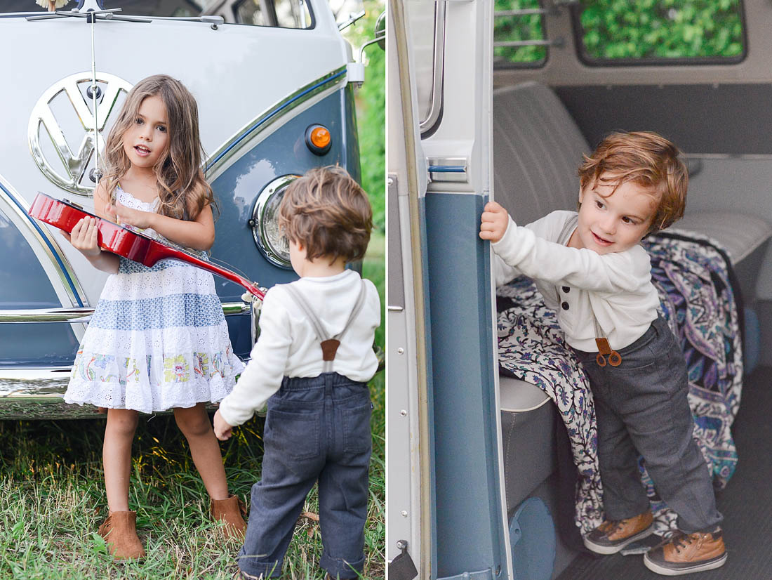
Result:
<svg viewBox="0 0 772 580"><path fill-rule="evenodd" d="M306 86L296 90L294 93L289 94L278 103L273 104L271 107L263 111L252 121L249 122L244 128L239 130L228 141L225 141L217 151L209 156L205 163L205 171L216 172L222 165L224 165L230 158L232 158L235 151L238 151L236 147L239 143L244 141L247 137L256 137L271 127L281 116L280 112L289 112L290 110L299 107L305 103L311 97L321 93L323 90L327 90L330 87L337 86L346 82L346 66L340 66L336 70L327 73L324 76L320 76L317 80L313 80ZM331 83L331 84L330 84ZM210 178L211 181L211 178Z"/></svg>

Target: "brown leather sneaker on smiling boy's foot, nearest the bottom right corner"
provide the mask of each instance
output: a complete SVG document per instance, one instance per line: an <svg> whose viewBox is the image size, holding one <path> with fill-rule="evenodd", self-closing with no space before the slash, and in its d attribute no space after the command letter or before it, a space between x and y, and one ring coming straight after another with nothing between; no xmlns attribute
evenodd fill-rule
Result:
<svg viewBox="0 0 772 580"><path fill-rule="evenodd" d="M720 568L726 562L721 528L695 534L675 534L643 556L646 568L665 576L679 576Z"/></svg>

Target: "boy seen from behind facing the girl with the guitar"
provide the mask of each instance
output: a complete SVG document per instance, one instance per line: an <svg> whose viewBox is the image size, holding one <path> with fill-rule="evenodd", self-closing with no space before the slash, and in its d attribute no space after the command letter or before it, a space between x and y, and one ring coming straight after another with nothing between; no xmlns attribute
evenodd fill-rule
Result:
<svg viewBox="0 0 772 580"><path fill-rule="evenodd" d="M317 168L287 188L279 227L300 280L266 293L252 360L215 414L215 435L228 439L232 426L268 403L240 575L281 575L318 480L320 565L328 578L358 578L372 447L367 381L378 368L372 345L381 307L374 284L346 263L364 256L372 211L343 168Z"/></svg>

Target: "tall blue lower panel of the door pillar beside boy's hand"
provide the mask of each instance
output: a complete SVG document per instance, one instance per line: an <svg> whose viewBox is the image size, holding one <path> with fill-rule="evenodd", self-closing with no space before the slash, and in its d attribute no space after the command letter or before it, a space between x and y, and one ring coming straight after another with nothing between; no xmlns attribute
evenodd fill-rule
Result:
<svg viewBox="0 0 772 580"><path fill-rule="evenodd" d="M426 195L437 578L506 575L496 435L489 244L481 195ZM473 538L473 541L470 539Z"/></svg>

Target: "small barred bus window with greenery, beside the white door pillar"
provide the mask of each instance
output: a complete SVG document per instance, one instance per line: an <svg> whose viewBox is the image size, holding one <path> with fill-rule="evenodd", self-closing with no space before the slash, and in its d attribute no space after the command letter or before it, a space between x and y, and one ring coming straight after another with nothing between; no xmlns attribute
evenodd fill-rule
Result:
<svg viewBox="0 0 772 580"><path fill-rule="evenodd" d="M547 39L539 0L496 0L493 11L493 68L543 66Z"/></svg>

